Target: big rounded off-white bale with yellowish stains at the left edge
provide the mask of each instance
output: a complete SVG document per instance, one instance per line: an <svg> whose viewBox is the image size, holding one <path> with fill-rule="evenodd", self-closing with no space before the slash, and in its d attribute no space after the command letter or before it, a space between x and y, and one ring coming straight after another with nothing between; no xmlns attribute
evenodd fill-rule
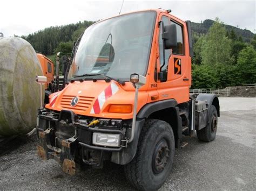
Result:
<svg viewBox="0 0 256 191"><path fill-rule="evenodd" d="M21 38L0 38L0 136L22 135L36 126L44 88L35 82L43 75L33 47ZM42 92L42 96L40 96Z"/></svg>

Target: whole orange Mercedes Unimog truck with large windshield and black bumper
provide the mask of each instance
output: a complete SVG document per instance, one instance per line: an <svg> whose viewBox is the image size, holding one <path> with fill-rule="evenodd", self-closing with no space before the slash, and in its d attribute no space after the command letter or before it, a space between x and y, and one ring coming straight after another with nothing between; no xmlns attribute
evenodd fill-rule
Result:
<svg viewBox="0 0 256 191"><path fill-rule="evenodd" d="M38 110L38 155L75 174L104 160L137 189L161 187L184 136L211 142L219 100L190 94L190 21L170 10L131 12L88 27L73 48L66 86Z"/></svg>

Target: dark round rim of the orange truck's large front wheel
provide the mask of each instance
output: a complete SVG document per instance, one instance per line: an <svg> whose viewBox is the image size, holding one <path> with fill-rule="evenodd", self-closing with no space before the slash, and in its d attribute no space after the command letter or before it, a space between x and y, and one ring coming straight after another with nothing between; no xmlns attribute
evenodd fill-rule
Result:
<svg viewBox="0 0 256 191"><path fill-rule="evenodd" d="M164 171L169 158L169 146L165 139L161 139L154 148L152 156L152 169L155 174Z"/></svg>

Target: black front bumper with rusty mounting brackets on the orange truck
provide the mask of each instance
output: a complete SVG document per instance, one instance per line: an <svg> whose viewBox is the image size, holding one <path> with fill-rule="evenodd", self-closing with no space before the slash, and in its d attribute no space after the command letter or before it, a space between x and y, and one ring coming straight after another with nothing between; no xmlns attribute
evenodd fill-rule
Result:
<svg viewBox="0 0 256 191"><path fill-rule="evenodd" d="M37 122L38 155L44 160L55 159L69 174L75 174L84 164L102 167L113 152L122 152L127 147L126 130L120 125L111 129L91 127L69 110L59 114L39 110ZM92 145L93 132L120 135L120 147Z"/></svg>

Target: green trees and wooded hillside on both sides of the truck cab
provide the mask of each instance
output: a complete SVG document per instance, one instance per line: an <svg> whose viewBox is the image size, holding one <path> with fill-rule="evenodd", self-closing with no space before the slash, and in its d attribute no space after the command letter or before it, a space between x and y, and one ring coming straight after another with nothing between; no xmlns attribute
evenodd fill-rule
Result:
<svg viewBox="0 0 256 191"><path fill-rule="evenodd" d="M71 54L73 42L93 23L84 21L49 27L22 38L55 62L57 52ZM256 83L256 34L225 25L218 18L192 23L192 31L192 88Z"/></svg>

